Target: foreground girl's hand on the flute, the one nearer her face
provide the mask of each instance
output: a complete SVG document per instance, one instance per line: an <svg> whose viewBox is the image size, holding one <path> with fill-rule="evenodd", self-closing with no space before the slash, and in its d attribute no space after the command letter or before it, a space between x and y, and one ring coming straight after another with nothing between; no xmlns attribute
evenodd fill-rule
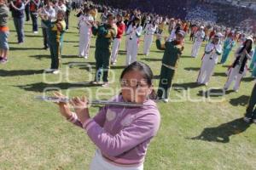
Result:
<svg viewBox="0 0 256 170"><path fill-rule="evenodd" d="M90 118L88 100L85 97L82 99L75 97L70 101L70 104L73 105L74 111L76 112L80 122L84 123Z"/></svg>

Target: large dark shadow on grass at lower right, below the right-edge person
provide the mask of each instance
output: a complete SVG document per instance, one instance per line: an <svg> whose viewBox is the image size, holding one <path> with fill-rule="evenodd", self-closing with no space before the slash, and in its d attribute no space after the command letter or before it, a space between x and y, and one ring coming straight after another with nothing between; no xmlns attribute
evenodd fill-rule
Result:
<svg viewBox="0 0 256 170"><path fill-rule="evenodd" d="M245 132L250 125L251 123L244 122L241 117L231 122L221 124L218 127L206 127L200 135L187 139L229 143L230 136Z"/></svg>

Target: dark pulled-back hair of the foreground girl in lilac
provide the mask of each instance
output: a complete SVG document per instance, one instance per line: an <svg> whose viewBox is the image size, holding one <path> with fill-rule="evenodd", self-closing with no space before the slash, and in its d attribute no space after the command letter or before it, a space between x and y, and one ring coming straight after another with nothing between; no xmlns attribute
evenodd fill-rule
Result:
<svg viewBox="0 0 256 170"><path fill-rule="evenodd" d="M151 87L153 85L153 71L147 64L140 61L135 61L131 63L131 65L126 66L124 71L122 71L119 81L121 81L125 74L130 71L140 71L143 75L143 78L145 79L145 82L147 82L148 87ZM155 97L156 95L153 89L152 93L148 96L148 98L155 99Z"/></svg>

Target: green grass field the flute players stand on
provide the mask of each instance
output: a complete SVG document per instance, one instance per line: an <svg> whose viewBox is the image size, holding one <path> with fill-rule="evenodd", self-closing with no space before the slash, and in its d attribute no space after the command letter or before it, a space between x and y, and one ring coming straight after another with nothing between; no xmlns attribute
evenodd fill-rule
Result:
<svg viewBox="0 0 256 170"><path fill-rule="evenodd" d="M72 14L70 29L64 37L61 74L45 77L43 72L49 68L50 59L49 51L42 49L41 30L38 35L33 35L31 22L26 22L25 43L19 45L13 20L9 20L9 26L9 63L0 65L0 169L88 169L96 146L83 129L66 122L56 105L33 99L49 87L61 88L63 94L69 93L70 96L89 95L90 89L92 99L96 99L96 92L108 91L108 88L81 83L91 81L94 67L92 72L84 66L68 69L70 62L85 61L77 57L77 19ZM95 37L90 45L90 59L86 62L94 66ZM224 72L233 54L227 65L216 66L208 87L198 87L195 80L203 48L200 57L192 59L189 57L191 46L187 39L170 95L171 102L158 104L160 130L148 148L144 169L256 169L256 125L241 120L253 79L247 73L239 93L229 91L224 96L205 97L207 89L223 88L227 78ZM119 88L119 75L125 65L124 49L125 38L118 63L112 68L115 75L111 79L115 82L110 88ZM139 53L142 51L143 42ZM137 57L153 69L155 87L159 81L162 55L153 43L148 57ZM100 98L110 96L101 95ZM91 115L96 111L98 108L90 108Z"/></svg>

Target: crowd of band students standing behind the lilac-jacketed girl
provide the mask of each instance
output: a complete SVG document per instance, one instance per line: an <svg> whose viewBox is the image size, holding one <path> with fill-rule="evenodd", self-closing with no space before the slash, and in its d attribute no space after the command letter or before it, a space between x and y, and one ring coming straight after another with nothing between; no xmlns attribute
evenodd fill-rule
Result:
<svg viewBox="0 0 256 170"><path fill-rule="evenodd" d="M64 32L68 30L68 16L70 11L76 10L79 30L78 56L88 59L90 56L90 39L96 36L96 76L92 82L108 87L108 73L110 65L116 65L118 61L119 44L125 35L125 65L137 61L138 48L143 39L143 54L148 56L150 48L156 36L156 46L165 50L162 59L160 73L160 89L158 99L168 101L169 90L172 88L172 79L177 69L178 60L183 52L184 37L188 34L189 40L193 42L191 57L198 57L202 42L207 42L205 52L202 56L201 69L196 82L199 85L207 85L210 81L218 58L219 64L225 64L231 50L239 43L235 59L226 71L228 78L224 84L224 90L230 88L231 82L235 82L234 90L238 91L241 78L246 75L247 70L252 71L252 77L256 77L256 53L253 50L255 35L236 28L211 25L202 20L180 20L168 18L160 14L143 13L138 9L123 10L100 6L91 2L74 2L58 0L28 0L11 1L9 3L1 0L1 62L7 62L8 36L7 26L9 9L15 22L18 43L24 42L24 19L32 20L32 32L38 33L38 17L41 18L41 27L44 37L44 49L49 48L51 55L51 66L47 70L54 74L59 73L61 64L61 47ZM29 6L28 9L26 7ZM29 11L30 17L27 13ZM96 20L100 13L100 21ZM25 15L26 14L26 15ZM165 34L168 36L164 36ZM143 37L143 38L142 38ZM161 44L164 37L165 43ZM172 57L168 57L172 56ZM247 65L251 60L250 65ZM102 82L101 83L101 77Z"/></svg>

